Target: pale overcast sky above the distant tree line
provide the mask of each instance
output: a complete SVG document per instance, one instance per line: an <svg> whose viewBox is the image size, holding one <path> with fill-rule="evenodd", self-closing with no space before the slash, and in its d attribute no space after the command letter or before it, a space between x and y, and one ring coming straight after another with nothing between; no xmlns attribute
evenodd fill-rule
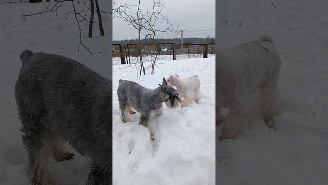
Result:
<svg viewBox="0 0 328 185"><path fill-rule="evenodd" d="M137 5L138 0L117 0L121 4ZM141 7L152 7L152 0L141 0ZM178 25L178 30L183 32L183 37L215 36L215 0L166 0L163 14ZM197 31L212 29L207 31ZM197 31L197 32L188 32ZM113 40L134 39L138 34L127 22L118 17L113 18ZM180 38L180 33L158 33L159 38Z"/></svg>

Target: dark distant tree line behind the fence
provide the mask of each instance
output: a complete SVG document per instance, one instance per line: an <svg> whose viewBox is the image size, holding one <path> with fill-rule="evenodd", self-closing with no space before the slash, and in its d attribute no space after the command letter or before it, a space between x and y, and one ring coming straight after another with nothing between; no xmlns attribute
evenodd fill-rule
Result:
<svg viewBox="0 0 328 185"><path fill-rule="evenodd" d="M157 43L174 43L180 44L180 38L173 38L173 39L164 39L158 38L156 39ZM131 44L134 43L135 39L124 39L124 40L114 40L113 44ZM141 40L142 43L146 43L145 39ZM148 42L147 42L148 43ZM207 43L214 43L214 38L183 38L183 44L207 44Z"/></svg>

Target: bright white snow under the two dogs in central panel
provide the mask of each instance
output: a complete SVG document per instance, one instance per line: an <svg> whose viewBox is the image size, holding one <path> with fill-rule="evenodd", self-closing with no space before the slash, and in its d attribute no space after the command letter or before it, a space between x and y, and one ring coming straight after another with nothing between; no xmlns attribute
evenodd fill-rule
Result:
<svg viewBox="0 0 328 185"><path fill-rule="evenodd" d="M155 74L139 76L133 68L113 66L113 184L213 184L215 183L215 57L162 61ZM145 64L148 66L148 64ZM135 81L157 88L163 77L197 74L201 81L199 104L176 109L163 107L162 116L151 118L155 141L140 115L132 122L120 120L118 80Z"/></svg>

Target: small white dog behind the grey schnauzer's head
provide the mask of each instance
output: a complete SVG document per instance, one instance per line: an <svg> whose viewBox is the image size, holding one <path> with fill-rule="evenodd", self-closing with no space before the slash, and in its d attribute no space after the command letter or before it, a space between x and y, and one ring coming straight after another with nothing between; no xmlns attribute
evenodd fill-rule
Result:
<svg viewBox="0 0 328 185"><path fill-rule="evenodd" d="M185 98L182 101L181 107L187 107L189 105L191 96L194 94L195 102L198 104L200 100L200 80L197 75L180 79L177 74L169 75L167 79L169 85L176 86L181 97Z"/></svg>

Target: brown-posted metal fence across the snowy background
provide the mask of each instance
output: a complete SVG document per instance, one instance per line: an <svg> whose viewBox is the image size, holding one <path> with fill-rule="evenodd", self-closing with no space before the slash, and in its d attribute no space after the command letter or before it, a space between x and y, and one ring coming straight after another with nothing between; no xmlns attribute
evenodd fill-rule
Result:
<svg viewBox="0 0 328 185"><path fill-rule="evenodd" d="M156 56L156 60L179 60L188 58L208 58L215 55L215 43L210 44L113 44L113 64L131 64L142 53L146 60Z"/></svg>

